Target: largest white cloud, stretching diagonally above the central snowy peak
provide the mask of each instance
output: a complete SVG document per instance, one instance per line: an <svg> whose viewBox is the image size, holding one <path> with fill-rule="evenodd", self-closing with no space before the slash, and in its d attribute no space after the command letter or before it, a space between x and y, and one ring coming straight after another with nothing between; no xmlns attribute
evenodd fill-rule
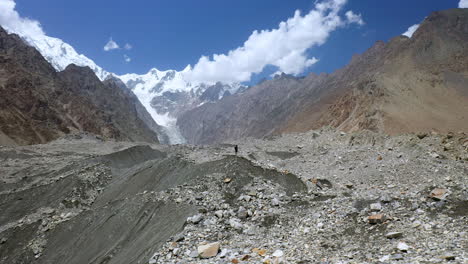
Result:
<svg viewBox="0 0 468 264"><path fill-rule="evenodd" d="M305 15L298 10L276 29L255 30L242 47L227 54L202 56L185 76L199 82L244 82L267 65L276 66L286 74L300 74L318 61L308 57L309 48L324 44L339 27L364 23L353 12L347 12L345 19L339 15L346 2L325 0L316 3Z"/></svg>

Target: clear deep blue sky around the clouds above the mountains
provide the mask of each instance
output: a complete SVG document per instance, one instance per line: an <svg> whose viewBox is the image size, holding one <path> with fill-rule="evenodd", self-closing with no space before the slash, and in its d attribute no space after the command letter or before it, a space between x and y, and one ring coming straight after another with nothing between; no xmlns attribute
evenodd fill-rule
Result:
<svg viewBox="0 0 468 264"><path fill-rule="evenodd" d="M46 3L45 3L46 2ZM225 54L242 46L254 30L307 13L313 0L16 0L23 17L40 21L47 35L71 44L79 53L117 74L146 73L150 68L182 70L202 55ZM319 61L305 72L332 72L377 40L387 41L420 23L436 10L455 8L459 0L348 0L344 9L361 14L364 25L332 31L326 42L307 50ZM112 37L131 50L104 51ZM125 62L123 55L132 60ZM272 68L272 67L268 67ZM255 75L253 80L274 70Z"/></svg>

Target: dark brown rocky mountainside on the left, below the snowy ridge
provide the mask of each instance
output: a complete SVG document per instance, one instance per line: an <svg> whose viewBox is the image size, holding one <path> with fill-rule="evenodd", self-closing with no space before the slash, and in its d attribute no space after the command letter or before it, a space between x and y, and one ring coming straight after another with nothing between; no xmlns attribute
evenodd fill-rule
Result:
<svg viewBox="0 0 468 264"><path fill-rule="evenodd" d="M71 132L157 142L141 104L103 84L88 67L54 68L18 36L0 28L0 144L45 143ZM141 108L138 110L138 108Z"/></svg>

